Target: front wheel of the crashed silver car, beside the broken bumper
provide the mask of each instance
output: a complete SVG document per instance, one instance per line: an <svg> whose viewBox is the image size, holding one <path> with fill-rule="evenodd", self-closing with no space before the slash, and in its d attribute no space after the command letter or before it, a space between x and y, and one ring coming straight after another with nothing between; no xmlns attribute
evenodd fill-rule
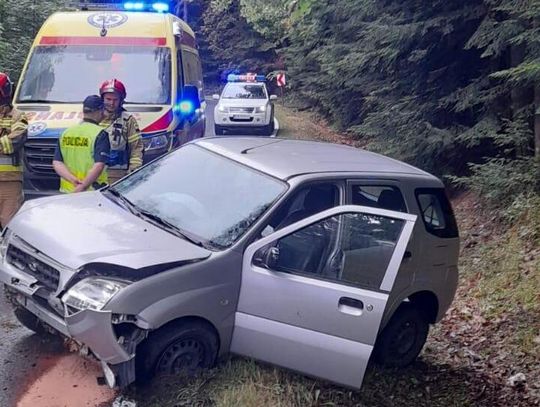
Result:
<svg viewBox="0 0 540 407"><path fill-rule="evenodd" d="M219 349L203 322L171 323L150 334L137 351L137 381L154 376L193 375L214 365Z"/></svg>

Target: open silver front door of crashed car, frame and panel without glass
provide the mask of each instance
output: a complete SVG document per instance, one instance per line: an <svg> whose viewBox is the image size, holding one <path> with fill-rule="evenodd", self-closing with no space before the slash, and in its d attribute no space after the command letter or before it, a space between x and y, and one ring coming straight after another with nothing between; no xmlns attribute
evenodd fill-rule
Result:
<svg viewBox="0 0 540 407"><path fill-rule="evenodd" d="M343 213L405 221L379 291L275 272L253 264L253 256L265 245ZM415 221L416 215L408 213L345 205L310 216L249 246L242 266L231 352L359 388ZM343 298L362 306L343 307Z"/></svg>

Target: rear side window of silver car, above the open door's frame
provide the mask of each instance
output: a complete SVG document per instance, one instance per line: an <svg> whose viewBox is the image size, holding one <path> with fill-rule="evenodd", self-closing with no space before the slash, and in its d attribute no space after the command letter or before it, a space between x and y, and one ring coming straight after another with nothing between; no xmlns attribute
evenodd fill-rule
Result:
<svg viewBox="0 0 540 407"><path fill-rule="evenodd" d="M401 191L390 185L351 185L351 203L390 211L407 212Z"/></svg>

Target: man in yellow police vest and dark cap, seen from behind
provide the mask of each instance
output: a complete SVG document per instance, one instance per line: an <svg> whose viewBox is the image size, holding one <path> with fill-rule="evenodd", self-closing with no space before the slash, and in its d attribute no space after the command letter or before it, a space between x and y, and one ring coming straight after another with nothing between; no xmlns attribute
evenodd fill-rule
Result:
<svg viewBox="0 0 540 407"><path fill-rule="evenodd" d="M109 135L99 126L103 100L88 96L83 102L83 121L70 127L58 139L53 167L61 177L60 192L81 192L107 184Z"/></svg>

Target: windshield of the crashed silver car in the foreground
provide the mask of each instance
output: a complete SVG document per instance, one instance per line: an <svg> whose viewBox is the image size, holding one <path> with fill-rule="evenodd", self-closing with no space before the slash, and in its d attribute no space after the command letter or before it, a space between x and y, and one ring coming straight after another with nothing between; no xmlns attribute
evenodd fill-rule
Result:
<svg viewBox="0 0 540 407"><path fill-rule="evenodd" d="M286 184L202 147L188 145L113 188L136 210L214 249L237 241Z"/></svg>

